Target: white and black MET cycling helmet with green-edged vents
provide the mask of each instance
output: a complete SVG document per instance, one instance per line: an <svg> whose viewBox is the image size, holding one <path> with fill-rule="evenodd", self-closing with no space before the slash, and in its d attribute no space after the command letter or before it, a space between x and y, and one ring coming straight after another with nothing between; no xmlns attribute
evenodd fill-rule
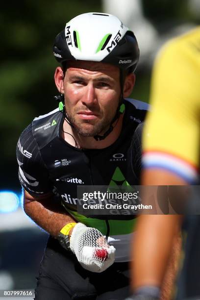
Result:
<svg viewBox="0 0 200 300"><path fill-rule="evenodd" d="M68 60L99 61L134 72L139 48L134 33L117 17L91 12L66 24L55 38L53 54L62 64Z"/></svg>

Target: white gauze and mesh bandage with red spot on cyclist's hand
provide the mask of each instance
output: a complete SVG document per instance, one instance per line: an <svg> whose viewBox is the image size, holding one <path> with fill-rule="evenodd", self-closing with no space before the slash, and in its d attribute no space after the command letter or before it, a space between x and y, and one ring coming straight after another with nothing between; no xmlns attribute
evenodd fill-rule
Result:
<svg viewBox="0 0 200 300"><path fill-rule="evenodd" d="M82 223L73 228L70 249L81 266L91 272L103 272L115 260L115 248L107 244L100 231Z"/></svg>

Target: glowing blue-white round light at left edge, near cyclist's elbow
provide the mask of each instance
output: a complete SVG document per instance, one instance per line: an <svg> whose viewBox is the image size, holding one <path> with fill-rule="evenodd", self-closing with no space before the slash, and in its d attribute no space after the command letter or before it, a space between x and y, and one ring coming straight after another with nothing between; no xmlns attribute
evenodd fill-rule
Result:
<svg viewBox="0 0 200 300"><path fill-rule="evenodd" d="M16 211L20 200L17 194L11 191L0 191L0 213Z"/></svg>

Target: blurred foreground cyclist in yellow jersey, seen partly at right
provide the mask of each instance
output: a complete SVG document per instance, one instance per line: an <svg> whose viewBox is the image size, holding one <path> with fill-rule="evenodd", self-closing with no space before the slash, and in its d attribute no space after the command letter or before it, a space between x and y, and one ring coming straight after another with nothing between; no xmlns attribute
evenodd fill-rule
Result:
<svg viewBox="0 0 200 300"><path fill-rule="evenodd" d="M200 27L170 41L158 55L144 131L144 185L199 182ZM177 299L200 299L200 218L186 217L188 238ZM132 255L135 295L158 299L177 226L183 218L143 215ZM163 234L164 233L164 234ZM142 247L148 243L148 250ZM173 297L173 296L172 296Z"/></svg>

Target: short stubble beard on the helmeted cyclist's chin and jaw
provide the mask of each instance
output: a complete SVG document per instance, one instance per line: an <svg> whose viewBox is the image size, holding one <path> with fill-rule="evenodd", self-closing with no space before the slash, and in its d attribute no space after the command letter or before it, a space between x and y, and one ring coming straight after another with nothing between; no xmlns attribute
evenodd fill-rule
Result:
<svg viewBox="0 0 200 300"><path fill-rule="evenodd" d="M91 136L95 136L95 135L99 135L101 132L104 133L109 126L111 125L111 122L114 118L114 116L112 116L111 118L102 118L100 121L98 121L97 124L95 125L91 125L90 128L84 128L84 124L90 124L90 122L92 123L93 121L83 121L82 124L81 122L77 122L75 121L75 117L73 117L67 110L66 110L68 119L70 121L70 123L75 127L75 130L77 131L77 133L81 136L85 136L85 137L91 137Z"/></svg>

